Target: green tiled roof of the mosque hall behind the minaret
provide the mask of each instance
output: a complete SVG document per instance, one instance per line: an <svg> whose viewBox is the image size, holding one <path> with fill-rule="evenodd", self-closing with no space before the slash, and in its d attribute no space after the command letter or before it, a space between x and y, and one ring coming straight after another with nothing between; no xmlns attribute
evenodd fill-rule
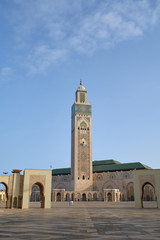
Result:
<svg viewBox="0 0 160 240"><path fill-rule="evenodd" d="M134 169L152 169L151 167L140 163L140 162L133 162L133 163L120 163L115 160L102 160L102 161L93 161L93 172L113 172L113 171L127 171L127 170L134 170ZM71 174L70 168L59 168L53 169L52 175L67 175Z"/></svg>

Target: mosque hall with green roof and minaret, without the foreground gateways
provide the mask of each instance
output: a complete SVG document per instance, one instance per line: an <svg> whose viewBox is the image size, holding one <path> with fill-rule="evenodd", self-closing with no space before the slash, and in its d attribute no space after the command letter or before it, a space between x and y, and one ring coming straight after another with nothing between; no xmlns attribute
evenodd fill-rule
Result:
<svg viewBox="0 0 160 240"><path fill-rule="evenodd" d="M92 105L80 81L71 111L71 168L52 170L52 201L134 201L133 170L140 162L92 161ZM144 200L154 200L150 185Z"/></svg>

